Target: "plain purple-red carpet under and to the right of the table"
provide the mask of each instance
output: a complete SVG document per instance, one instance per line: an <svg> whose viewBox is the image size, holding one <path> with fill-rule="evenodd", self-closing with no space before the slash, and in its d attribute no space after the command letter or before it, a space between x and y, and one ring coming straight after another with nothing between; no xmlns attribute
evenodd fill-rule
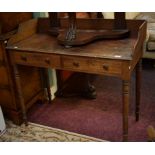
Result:
<svg viewBox="0 0 155 155"><path fill-rule="evenodd" d="M155 126L155 68L145 64L142 71L140 120L135 122L134 75L129 110L129 141L147 141L147 127ZM50 104L35 104L29 121L108 141L122 141L121 80L98 76L94 85L97 99L56 98Z"/></svg>

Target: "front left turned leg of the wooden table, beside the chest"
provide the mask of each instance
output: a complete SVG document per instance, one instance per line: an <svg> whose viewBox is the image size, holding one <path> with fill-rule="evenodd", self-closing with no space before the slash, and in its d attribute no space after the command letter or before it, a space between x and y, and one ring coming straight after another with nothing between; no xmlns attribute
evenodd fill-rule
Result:
<svg viewBox="0 0 155 155"><path fill-rule="evenodd" d="M21 106L23 121L24 121L25 125L27 126L28 121L27 121L27 115L26 115L26 106L25 106L24 96L23 96L23 92L22 92L22 88L21 88L20 74L18 71L18 66L16 64L13 64L13 74L15 77L15 85L17 88L17 98L18 98L18 101Z"/></svg>

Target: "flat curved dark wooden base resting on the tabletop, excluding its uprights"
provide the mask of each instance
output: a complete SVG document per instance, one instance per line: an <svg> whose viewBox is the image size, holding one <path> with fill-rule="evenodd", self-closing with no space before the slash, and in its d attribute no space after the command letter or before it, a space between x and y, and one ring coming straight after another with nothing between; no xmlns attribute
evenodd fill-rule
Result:
<svg viewBox="0 0 155 155"><path fill-rule="evenodd" d="M67 34L67 35L66 35ZM77 30L62 31L58 42L65 46L85 45L100 39L122 39L129 36L129 30Z"/></svg>

